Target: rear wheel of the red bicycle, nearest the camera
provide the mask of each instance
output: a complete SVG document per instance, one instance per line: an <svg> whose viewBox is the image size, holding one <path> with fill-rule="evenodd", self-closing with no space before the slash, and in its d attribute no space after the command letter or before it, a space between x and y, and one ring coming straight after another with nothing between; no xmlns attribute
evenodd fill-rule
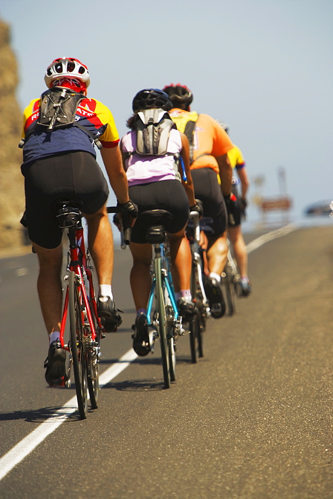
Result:
<svg viewBox="0 0 333 499"><path fill-rule="evenodd" d="M83 350L83 325L82 311L79 293L76 284L76 274L72 270L69 273L69 323L71 354L75 379L75 391L80 418L86 419L88 412L88 394L87 394L87 362L84 358Z"/></svg>

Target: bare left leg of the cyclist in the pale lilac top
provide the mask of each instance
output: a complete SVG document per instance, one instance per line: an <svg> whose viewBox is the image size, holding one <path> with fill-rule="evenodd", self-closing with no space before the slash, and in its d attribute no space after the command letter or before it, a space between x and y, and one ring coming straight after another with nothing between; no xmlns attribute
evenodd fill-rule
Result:
<svg viewBox="0 0 333 499"><path fill-rule="evenodd" d="M131 243L130 250L133 256L130 282L134 304L137 310L147 308L149 293L152 285L150 264L152 260L152 246L149 243Z"/></svg>

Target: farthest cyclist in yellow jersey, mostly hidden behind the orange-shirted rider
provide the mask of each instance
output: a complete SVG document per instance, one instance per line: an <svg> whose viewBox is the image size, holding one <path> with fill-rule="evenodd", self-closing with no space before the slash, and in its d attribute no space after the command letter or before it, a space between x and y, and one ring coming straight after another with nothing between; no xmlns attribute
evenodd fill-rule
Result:
<svg viewBox="0 0 333 499"><path fill-rule="evenodd" d="M219 125L221 125L221 127L223 128L223 130L225 130L226 133L229 132L229 127L226 123L220 120L216 121L217 123L219 123ZM241 219L242 215L243 216L245 215L245 208L247 206L246 194L249 188L249 179L242 152L237 146L228 151L228 158L230 161L230 165L237 172L237 176L239 178L241 186L241 193L239 194L237 189L239 181L237 177L233 176L232 192L237 199L237 203L235 203L232 207L229 207L228 233L241 275L240 286L242 289L242 296L248 296L251 292L251 283L247 275L248 272L247 251L242 235Z"/></svg>

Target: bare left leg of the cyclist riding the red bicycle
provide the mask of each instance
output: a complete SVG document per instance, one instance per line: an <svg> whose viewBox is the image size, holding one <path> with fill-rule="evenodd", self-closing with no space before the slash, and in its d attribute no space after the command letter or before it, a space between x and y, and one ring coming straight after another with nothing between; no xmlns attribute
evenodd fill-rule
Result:
<svg viewBox="0 0 333 499"><path fill-rule="evenodd" d="M37 291L47 333L60 330L62 314L62 247L53 250L33 243L39 260Z"/></svg>

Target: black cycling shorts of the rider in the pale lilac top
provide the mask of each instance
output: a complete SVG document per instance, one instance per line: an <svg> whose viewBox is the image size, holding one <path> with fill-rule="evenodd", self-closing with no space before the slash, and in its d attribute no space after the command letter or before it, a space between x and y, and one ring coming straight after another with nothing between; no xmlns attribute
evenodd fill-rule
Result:
<svg viewBox="0 0 333 499"><path fill-rule="evenodd" d="M133 243L147 243L145 228L140 225L140 213L146 210L167 210L173 215L173 220L165 226L166 232L179 232L188 221L189 206L185 189L178 180L161 180L131 186L131 200L138 205L139 218L132 228Z"/></svg>

